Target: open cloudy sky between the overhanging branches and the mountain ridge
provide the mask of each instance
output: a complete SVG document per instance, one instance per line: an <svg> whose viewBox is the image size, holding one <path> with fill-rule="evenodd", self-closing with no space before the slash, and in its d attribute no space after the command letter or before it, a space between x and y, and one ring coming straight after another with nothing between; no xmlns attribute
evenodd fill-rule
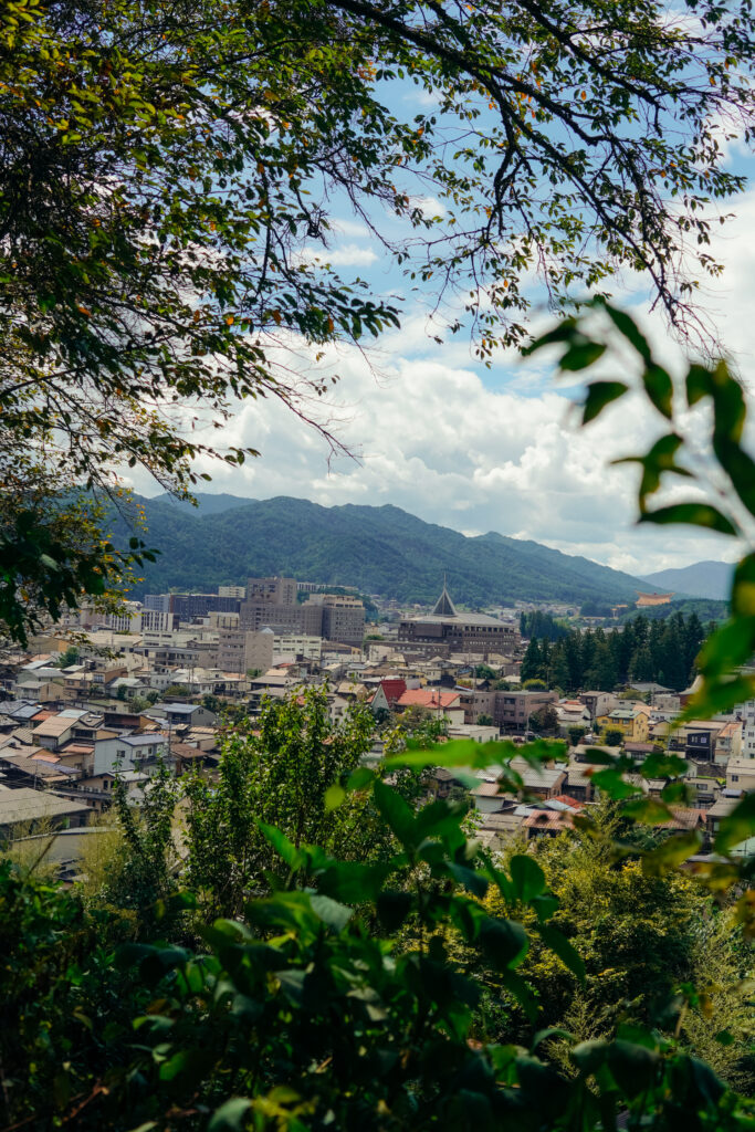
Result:
<svg viewBox="0 0 755 1132"><path fill-rule="evenodd" d="M731 161L740 170L753 166L740 153ZM729 211L736 218L717 229L713 246L726 271L706 283L700 302L748 386L755 357L755 187ZM380 246L345 212L328 259L378 290L395 286L395 268ZM649 314L642 281L615 281L612 290L678 371L683 351L660 315ZM552 323L552 316L541 317ZM463 335L439 345L432 332L421 299L414 299L404 307L401 329L385 334L368 355L350 346L327 352L320 371L337 372L340 380L327 403L314 409L332 422L351 457L333 457L317 431L282 404L246 402L223 440L250 445L260 456L240 469L199 461L198 470L213 477L203 490L255 499L294 496L325 506L393 504L465 534L498 531L533 539L640 576L738 556L731 540L695 528L636 525L637 469L610 462L646 451L658 427L640 397L623 400L581 429L575 388L556 379L552 355L539 355L535 363L501 353L487 370ZM610 376L621 377L620 368L618 359ZM134 486L158 494L140 477Z"/></svg>

